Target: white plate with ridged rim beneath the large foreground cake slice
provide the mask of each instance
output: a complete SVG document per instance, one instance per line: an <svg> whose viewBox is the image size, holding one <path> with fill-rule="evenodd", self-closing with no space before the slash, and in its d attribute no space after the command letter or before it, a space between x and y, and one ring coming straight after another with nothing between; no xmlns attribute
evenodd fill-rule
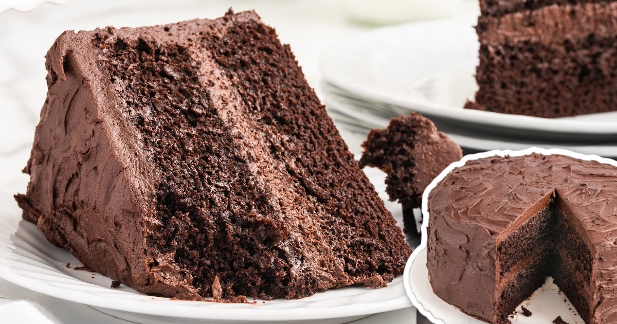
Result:
<svg viewBox="0 0 617 324"><path fill-rule="evenodd" d="M373 168L366 172L384 197L383 173ZM75 257L52 246L34 224L21 220L21 210L12 195L23 188L0 185L0 277L115 317L138 323L345 323L412 305L402 276L385 288L330 289L304 299L276 299L265 304L257 301L257 305L172 301L146 296L124 285L112 289L110 278L74 270L81 265ZM386 206L400 221L400 206Z"/></svg>

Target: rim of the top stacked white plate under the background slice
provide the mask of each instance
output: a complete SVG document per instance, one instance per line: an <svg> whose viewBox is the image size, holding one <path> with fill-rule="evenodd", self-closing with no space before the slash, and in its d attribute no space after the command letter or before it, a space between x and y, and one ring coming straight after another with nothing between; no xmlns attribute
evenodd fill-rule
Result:
<svg viewBox="0 0 617 324"><path fill-rule="evenodd" d="M394 33L402 33L404 31L410 33L414 30L422 30L423 28L431 28L434 26L439 27L442 25L453 25L453 28L450 28L451 30L460 31L464 30L464 28L458 27L471 28L476 22L476 19L471 20L469 18L439 19L426 22L404 23L401 25L382 27L376 30L366 31L360 35L346 39L346 41L341 41L334 46L330 46L321 54L318 65L324 80L334 86L348 91L355 97L366 101L378 101L394 106L404 107L405 109L410 110L410 112L417 111L426 115L476 125L486 125L495 128L510 128L513 130L523 131L537 131L539 133L559 133L564 135L617 135L617 128L611 127L611 123L609 122L576 120L572 117L542 118L527 115L502 114L499 112L488 112L476 109L463 109L462 107L438 104L418 98L413 99L400 93L386 94L383 93L383 91L379 91L375 87L363 84L362 82L348 82L344 76L341 77L344 73L334 73L334 69L331 69L332 66L339 65L338 63L341 62L336 59L336 57L339 56L339 53L346 52L344 49L346 47L354 47L351 46L352 44L355 44L355 48L358 48L358 44L362 44L363 49L371 49L373 53L378 53L383 50L383 47L369 46L369 44L371 40L383 38L384 35L387 36ZM455 33L453 33L453 35L455 35ZM430 46L425 46L425 49L430 48ZM430 51L424 51L424 53L427 52L430 54ZM348 55L347 57L350 56ZM490 120L494 121L490 122Z"/></svg>

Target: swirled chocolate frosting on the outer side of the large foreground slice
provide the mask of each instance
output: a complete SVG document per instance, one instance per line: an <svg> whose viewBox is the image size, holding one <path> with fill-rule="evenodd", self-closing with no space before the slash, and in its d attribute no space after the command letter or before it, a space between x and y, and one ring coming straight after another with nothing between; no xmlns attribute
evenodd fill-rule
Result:
<svg viewBox="0 0 617 324"><path fill-rule="evenodd" d="M143 216L155 171L96 64L92 31L65 31L46 55L48 97L25 173L23 217L84 265L145 293L200 299L166 273L149 273Z"/></svg>

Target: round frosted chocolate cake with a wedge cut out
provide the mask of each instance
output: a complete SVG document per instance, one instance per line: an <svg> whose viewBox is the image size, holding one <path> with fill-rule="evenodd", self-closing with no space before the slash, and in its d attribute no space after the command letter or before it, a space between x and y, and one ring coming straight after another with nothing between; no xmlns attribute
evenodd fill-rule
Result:
<svg viewBox="0 0 617 324"><path fill-rule="evenodd" d="M552 276L587 324L617 322L617 167L560 154L484 157L428 195L428 272L444 301L508 323Z"/></svg>

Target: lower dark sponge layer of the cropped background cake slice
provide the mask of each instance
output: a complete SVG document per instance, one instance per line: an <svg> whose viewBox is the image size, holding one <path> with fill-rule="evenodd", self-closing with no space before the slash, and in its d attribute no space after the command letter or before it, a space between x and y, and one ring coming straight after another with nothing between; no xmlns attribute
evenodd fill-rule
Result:
<svg viewBox="0 0 617 324"><path fill-rule="evenodd" d="M537 43L480 48L475 102L466 108L537 117L615 109L614 38L586 38L569 47Z"/></svg>

